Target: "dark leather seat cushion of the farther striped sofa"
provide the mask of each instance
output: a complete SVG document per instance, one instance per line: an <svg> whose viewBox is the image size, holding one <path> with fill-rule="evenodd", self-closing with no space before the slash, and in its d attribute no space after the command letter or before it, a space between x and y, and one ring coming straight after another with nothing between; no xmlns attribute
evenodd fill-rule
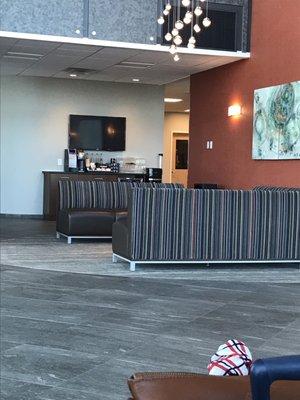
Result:
<svg viewBox="0 0 300 400"><path fill-rule="evenodd" d="M115 218L115 212L111 210L60 210L57 231L68 236L111 236Z"/></svg>

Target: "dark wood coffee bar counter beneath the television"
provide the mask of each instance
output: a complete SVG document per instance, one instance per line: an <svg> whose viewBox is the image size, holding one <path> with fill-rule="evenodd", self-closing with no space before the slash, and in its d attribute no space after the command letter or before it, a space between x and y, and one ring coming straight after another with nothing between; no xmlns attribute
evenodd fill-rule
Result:
<svg viewBox="0 0 300 400"><path fill-rule="evenodd" d="M44 219L55 221L58 211L58 181L68 180L89 180L89 181L126 181L144 180L145 174L138 172L63 172L63 171L43 171L44 175Z"/></svg>

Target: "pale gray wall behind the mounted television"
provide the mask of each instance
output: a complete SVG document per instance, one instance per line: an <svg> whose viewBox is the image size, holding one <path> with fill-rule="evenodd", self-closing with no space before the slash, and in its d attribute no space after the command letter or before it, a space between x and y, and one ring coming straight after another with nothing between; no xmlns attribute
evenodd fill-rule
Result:
<svg viewBox="0 0 300 400"><path fill-rule="evenodd" d="M163 88L6 77L1 81L1 213L41 214L43 170L62 170L69 114L127 118L126 152L157 165L163 148ZM105 155L105 152L103 152ZM113 157L117 153L106 153Z"/></svg>

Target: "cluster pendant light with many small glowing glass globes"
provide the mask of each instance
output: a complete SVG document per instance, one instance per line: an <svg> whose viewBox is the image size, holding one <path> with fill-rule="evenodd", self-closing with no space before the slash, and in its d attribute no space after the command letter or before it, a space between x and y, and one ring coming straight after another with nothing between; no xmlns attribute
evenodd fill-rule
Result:
<svg viewBox="0 0 300 400"><path fill-rule="evenodd" d="M179 61L177 54L178 47L183 43L181 30L189 29L190 37L187 47L193 49L196 46L197 35L201 32L201 26L211 26L211 19L208 16L209 0L162 0L161 14L157 22L159 25L167 23L165 40L171 42L169 51L174 61ZM204 12L205 9L205 12ZM200 19L201 18L201 19Z"/></svg>

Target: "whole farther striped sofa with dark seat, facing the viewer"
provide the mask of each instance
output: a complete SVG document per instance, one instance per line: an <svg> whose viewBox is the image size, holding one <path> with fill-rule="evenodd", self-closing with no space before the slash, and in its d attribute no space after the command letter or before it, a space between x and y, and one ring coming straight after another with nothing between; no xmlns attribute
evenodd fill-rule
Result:
<svg viewBox="0 0 300 400"><path fill-rule="evenodd" d="M59 181L57 238L111 238L114 222L127 216L128 195L133 187L181 187L146 182Z"/></svg>

